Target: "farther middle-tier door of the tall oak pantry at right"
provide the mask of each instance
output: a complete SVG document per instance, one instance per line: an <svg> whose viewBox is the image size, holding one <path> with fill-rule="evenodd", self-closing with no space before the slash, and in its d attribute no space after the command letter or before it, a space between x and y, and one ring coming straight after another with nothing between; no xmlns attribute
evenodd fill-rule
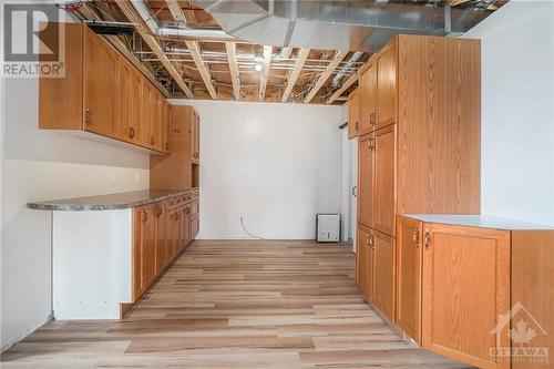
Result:
<svg viewBox="0 0 554 369"><path fill-rule="evenodd" d="M373 209L375 139L363 136L358 143L358 223L371 227Z"/></svg>

